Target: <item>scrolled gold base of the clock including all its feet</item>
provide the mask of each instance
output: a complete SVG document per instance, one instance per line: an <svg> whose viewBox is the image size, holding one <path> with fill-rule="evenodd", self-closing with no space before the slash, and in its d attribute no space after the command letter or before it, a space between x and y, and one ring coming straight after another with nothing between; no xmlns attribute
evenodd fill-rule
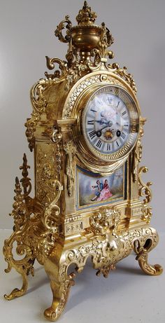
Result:
<svg viewBox="0 0 165 323"><path fill-rule="evenodd" d="M32 255L35 252L35 247L34 249L28 247L28 245L31 245L30 236L28 237L26 235L26 240L29 240L29 243L28 245L24 245L25 236L19 235L19 238L22 236L22 240L19 239L18 242L18 235L13 233L5 241L3 252L8 262L6 273L12 267L15 268L17 273L22 275L23 284L21 289L13 289L9 295L5 295L7 300L25 294L28 285L27 275L29 273L34 275L34 259L32 259ZM85 263L89 256L92 257L93 267L96 269L97 276L103 274L103 277L108 277L110 270L115 269L116 263L128 256L132 250L136 252L136 260L138 260L144 273L148 275L160 275L163 271L162 266L148 264L148 253L156 247L159 240L157 231L150 226L130 228L127 233L124 232L119 235L107 231L103 235L93 234L91 237L84 236L82 240L82 242L75 240L70 247L67 246L67 242L63 241L64 244L62 242L55 242L50 255L44 256L43 266L48 277L50 277L50 287L52 289L52 305L45 310L44 315L50 321L56 321L62 314L69 296L70 287L74 285L73 278L76 272L80 273L85 268ZM29 256L25 256L22 261L15 261L12 254L13 242L11 245L11 241L17 241L18 249L27 249ZM38 237L38 244L40 243L42 244L43 240L41 237ZM38 247L40 248L41 246ZM36 258L41 263L39 256L36 255ZM74 273L68 273L69 266L73 263L76 265L76 271Z"/></svg>

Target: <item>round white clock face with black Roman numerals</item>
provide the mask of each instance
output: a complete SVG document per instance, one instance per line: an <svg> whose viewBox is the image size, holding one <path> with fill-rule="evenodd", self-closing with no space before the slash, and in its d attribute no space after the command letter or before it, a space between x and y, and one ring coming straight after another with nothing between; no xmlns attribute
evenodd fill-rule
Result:
<svg viewBox="0 0 165 323"><path fill-rule="evenodd" d="M90 150L102 159L122 157L136 142L138 111L129 93L117 85L94 92L82 114L82 131Z"/></svg>

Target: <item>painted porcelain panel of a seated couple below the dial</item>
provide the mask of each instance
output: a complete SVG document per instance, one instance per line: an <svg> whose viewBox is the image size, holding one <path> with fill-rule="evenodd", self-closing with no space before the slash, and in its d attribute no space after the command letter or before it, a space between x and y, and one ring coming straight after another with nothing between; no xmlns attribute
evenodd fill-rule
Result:
<svg viewBox="0 0 165 323"><path fill-rule="evenodd" d="M77 166L77 209L124 199L124 166L102 177Z"/></svg>

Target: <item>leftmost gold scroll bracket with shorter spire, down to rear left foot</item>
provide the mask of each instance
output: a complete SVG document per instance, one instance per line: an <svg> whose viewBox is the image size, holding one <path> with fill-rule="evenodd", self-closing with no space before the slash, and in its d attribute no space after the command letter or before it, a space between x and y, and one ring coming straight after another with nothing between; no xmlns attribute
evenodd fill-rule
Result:
<svg viewBox="0 0 165 323"><path fill-rule="evenodd" d="M25 195L27 196L27 195ZM34 275L34 260L35 256L32 252L30 245L23 240L23 235L27 231L28 223L30 221L30 213L26 204L24 194L22 194L22 188L20 186L20 181L16 177L15 179L15 202L13 203L13 211L10 216L14 218L14 228L13 234L5 240L3 247L3 254L6 262L8 263L8 268L5 270L9 273L12 268L17 270L17 273L22 275L22 288L13 289L9 295L5 295L5 298L10 300L15 297L22 296L27 291L27 275L31 273ZM22 259L15 259L12 250L14 249L14 242L16 242L16 253L19 256L23 256Z"/></svg>

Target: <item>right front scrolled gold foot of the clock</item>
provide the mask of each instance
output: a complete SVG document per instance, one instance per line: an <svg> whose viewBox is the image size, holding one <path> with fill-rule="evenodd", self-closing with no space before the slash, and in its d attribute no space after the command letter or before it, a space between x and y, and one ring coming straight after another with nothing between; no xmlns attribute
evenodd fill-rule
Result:
<svg viewBox="0 0 165 323"><path fill-rule="evenodd" d="M152 276L161 275L163 272L162 266L158 264L150 265L148 263L148 252L150 252L150 249L152 248L153 248L152 240L147 240L147 242L145 242L145 245L143 247L141 247L139 241L136 240L135 248L134 248L137 254L136 260L138 260L138 264L144 273Z"/></svg>

